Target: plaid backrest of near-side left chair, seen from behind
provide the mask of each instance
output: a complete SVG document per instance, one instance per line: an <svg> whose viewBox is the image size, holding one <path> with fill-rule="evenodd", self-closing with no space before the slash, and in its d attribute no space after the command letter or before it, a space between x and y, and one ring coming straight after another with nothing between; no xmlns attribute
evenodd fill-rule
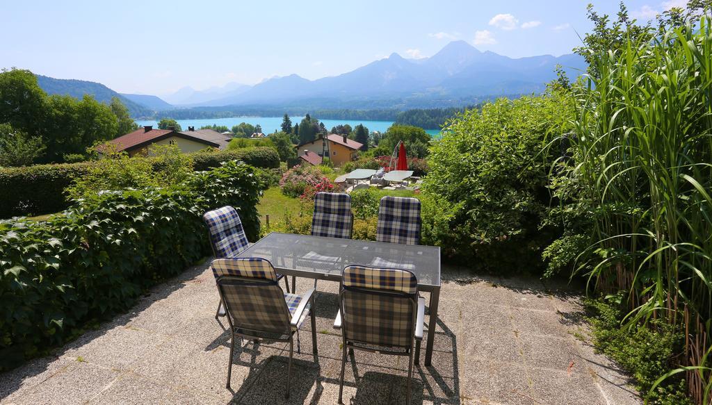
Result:
<svg viewBox="0 0 712 405"><path fill-rule="evenodd" d="M263 258L219 258L211 263L233 327L251 332L290 332L290 315L277 274Z"/></svg>

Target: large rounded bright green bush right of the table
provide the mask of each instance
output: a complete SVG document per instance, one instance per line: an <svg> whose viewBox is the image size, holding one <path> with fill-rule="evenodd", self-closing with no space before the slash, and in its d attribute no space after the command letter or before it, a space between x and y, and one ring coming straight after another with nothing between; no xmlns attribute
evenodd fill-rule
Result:
<svg viewBox="0 0 712 405"><path fill-rule="evenodd" d="M554 158L540 151L572 116L572 100L550 92L497 100L451 120L431 147L424 191L444 204L452 231L431 242L498 271L540 267L541 250L555 238L540 228Z"/></svg>

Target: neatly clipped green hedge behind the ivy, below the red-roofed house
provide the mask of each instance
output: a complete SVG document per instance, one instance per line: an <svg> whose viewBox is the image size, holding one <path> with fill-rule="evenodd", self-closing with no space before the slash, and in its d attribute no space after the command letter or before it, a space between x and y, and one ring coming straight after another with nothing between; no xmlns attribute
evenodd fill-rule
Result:
<svg viewBox="0 0 712 405"><path fill-rule="evenodd" d="M254 167L279 167L279 155L269 147L234 151L198 152L191 155L195 170L219 167L221 162L241 160ZM150 159L150 158L149 158ZM67 209L64 189L86 173L94 162L38 164L0 169L0 218L52 214Z"/></svg>

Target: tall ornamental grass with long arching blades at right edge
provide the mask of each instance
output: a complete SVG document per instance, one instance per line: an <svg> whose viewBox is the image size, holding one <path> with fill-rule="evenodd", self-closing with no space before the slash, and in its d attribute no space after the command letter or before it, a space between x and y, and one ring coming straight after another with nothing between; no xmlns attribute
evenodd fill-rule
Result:
<svg viewBox="0 0 712 405"><path fill-rule="evenodd" d="M661 319L684 332L672 366L701 404L712 387L710 24L595 56L597 75L575 86L575 134L555 169L557 196L589 221L577 271L624 291L624 327Z"/></svg>

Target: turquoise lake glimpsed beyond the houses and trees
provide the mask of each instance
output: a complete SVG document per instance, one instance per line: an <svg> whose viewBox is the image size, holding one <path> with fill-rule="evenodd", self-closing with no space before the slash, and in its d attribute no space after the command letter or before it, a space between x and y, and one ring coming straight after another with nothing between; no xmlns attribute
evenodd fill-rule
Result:
<svg viewBox="0 0 712 405"><path fill-rule="evenodd" d="M292 125L295 122L301 122L303 117L290 117L292 120ZM368 128L369 131L386 132L388 127L393 125L392 121L359 121L359 120L320 120L324 123L327 129L331 129L336 125L351 125L355 127L356 125L363 124ZM228 128L238 125L240 122L247 122L251 125L261 125L262 132L266 134L271 134L276 130L280 130L282 125L282 117L231 117L231 118L209 118L206 120L177 120L178 124L183 130L187 130L188 127L195 127L197 130L199 127L205 125L225 125ZM137 120L138 125L153 125L157 127L158 122L152 120ZM439 130L425 130L425 132L430 135L436 136L440 134Z"/></svg>

